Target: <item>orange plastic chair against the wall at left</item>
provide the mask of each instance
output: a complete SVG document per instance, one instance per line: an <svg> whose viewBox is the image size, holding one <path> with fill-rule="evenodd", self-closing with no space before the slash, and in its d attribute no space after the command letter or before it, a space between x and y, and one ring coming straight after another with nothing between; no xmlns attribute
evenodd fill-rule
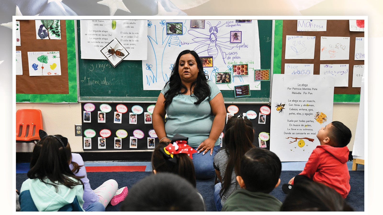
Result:
<svg viewBox="0 0 383 215"><path fill-rule="evenodd" d="M39 129L43 130L43 117L39 109L19 109L16 111L16 142L35 145L39 137Z"/></svg>

